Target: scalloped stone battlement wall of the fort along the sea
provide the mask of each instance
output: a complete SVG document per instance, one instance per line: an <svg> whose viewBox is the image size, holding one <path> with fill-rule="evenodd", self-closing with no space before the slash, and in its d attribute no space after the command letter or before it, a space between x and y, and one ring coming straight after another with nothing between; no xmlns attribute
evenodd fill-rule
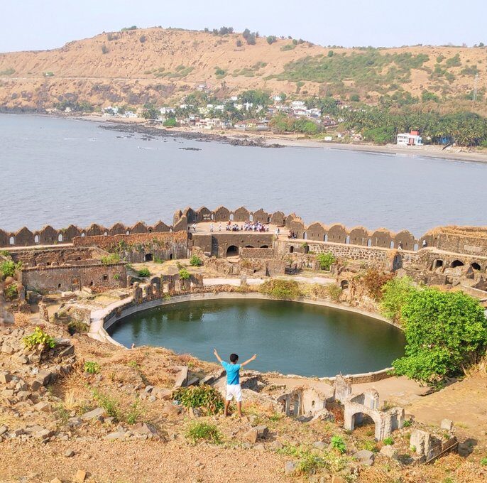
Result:
<svg viewBox="0 0 487 483"><path fill-rule="evenodd" d="M197 210L191 207L186 207L185 210L177 210L173 216L172 225L158 222L148 226L143 222L137 222L132 227L116 223L110 228L92 224L86 229L70 225L66 229L59 230L47 226L37 232L31 232L26 227L21 228L18 232L5 232L0 229L0 247L72 243L75 237L186 232L188 224L229 221L238 223L258 221L271 223L278 227L287 227L290 232L295 234L297 239L305 239L308 243L310 241L325 241L338 244L385 249L401 248L406 251L417 251L417 249L422 247L422 243L425 240L427 241L427 246L435 246L445 251L477 256L485 256L487 254L486 227L439 227L417 238L407 230L395 233L385 228L374 231L360 226L348 229L343 224L326 225L321 222L313 222L306 225L295 213L290 215L285 215L281 211L270 213L262 208L251 211L245 207L230 210L224 206L217 207L215 210L209 210L209 208L204 206L199 207Z"/></svg>

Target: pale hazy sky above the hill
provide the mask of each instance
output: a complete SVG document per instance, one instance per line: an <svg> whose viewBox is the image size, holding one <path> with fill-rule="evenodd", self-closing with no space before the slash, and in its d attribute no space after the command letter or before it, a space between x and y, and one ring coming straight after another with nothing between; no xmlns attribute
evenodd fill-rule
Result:
<svg viewBox="0 0 487 483"><path fill-rule="evenodd" d="M124 26L248 27L322 45L487 44L486 0L0 0L0 52Z"/></svg>

